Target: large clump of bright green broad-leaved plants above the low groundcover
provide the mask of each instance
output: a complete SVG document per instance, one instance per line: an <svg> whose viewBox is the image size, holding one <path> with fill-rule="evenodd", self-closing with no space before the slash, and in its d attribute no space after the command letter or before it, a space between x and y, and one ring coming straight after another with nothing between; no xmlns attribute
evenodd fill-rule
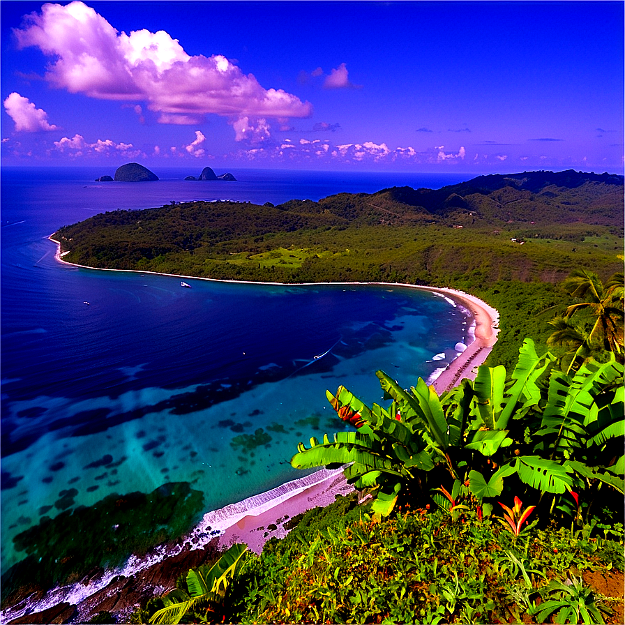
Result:
<svg viewBox="0 0 625 625"><path fill-rule="evenodd" d="M481 366L474 382L440 397L422 379L405 390L378 371L391 405L369 408L342 386L328 393L356 431L300 443L292 465L347 465L348 480L375 494L378 518L400 493L413 504L430 495L448 510L461 499L488 515L504 485L529 504L574 515L580 493L587 507L602 484L624 492L623 366L591 360L566 375L554 362L526 339L507 382L503 366Z"/></svg>

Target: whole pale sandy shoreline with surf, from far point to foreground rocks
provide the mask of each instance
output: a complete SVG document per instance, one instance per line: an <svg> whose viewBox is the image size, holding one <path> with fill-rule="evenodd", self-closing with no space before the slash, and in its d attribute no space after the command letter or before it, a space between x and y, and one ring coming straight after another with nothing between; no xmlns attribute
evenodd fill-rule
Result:
<svg viewBox="0 0 625 625"><path fill-rule="evenodd" d="M61 243L48 237L50 241L57 243L57 252L54 257L59 262L84 269L100 269L89 267L63 260L61 255ZM151 273L155 275L172 276L174 278L191 278L194 280L211 280L213 282L247 283L282 285L283 283L257 283L243 280L214 280L212 278L197 278L196 276L180 276L173 273L158 273L156 271L137 271L134 269L102 269L102 271L126 271L128 273ZM306 285L382 285L391 287L412 287L430 291L447 299L452 306L460 306L467 312L467 317L472 319L466 338L466 349L460 353L446 368L437 370L428 383L431 383L437 393L442 393L453 388L462 378L474 379L475 369L490 353L492 346L497 341L499 331L499 313L487 303L462 291L449 288L423 287L416 285L402 285L398 283L301 283ZM472 340L471 340L472 339ZM353 492L354 487L347 484L341 469L320 469L317 472L303 476L302 478L284 483L259 495L248 497L241 502L235 502L222 509L209 511L193 530L176 541L172 545L160 545L149 555L138 559L130 557L123 568L116 571L106 571L99 579L91 580L88 585L81 582L77 584L50 589L45 596L32 601L27 599L20 604L11 606L1 613L1 620L8 622L10 619L21 617L24 614L45 610L61 602L76 605L79 614L86 607L90 597L96 593L106 592L105 589L112 585L112 581L122 575L130 578L140 571L152 566L158 566L168 557L179 555L183 551L205 548L212 541L220 547L227 547L233 543L246 543L250 550L261 552L266 541L273 538L282 538L287 534L283 523L289 518L306 512L317 506L327 506L334 501L336 495L347 495ZM275 529L269 530L269 527ZM167 592L171 588L160 589ZM82 606L84 605L84 608Z"/></svg>

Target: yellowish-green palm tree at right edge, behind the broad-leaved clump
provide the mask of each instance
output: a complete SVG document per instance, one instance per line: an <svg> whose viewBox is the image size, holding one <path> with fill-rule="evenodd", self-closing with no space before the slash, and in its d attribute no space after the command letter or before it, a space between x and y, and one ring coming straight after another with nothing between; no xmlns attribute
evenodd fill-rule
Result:
<svg viewBox="0 0 625 625"><path fill-rule="evenodd" d="M548 338L548 345L570 345L575 350L567 373L575 363L580 364L593 352L604 350L615 354L617 361L624 360L623 346L623 273L615 273L603 285L596 273L576 269L562 283L562 289L576 299L583 299L566 308L562 317L553 319L556 331ZM573 324L573 315L582 317L587 311L592 317L592 328Z"/></svg>

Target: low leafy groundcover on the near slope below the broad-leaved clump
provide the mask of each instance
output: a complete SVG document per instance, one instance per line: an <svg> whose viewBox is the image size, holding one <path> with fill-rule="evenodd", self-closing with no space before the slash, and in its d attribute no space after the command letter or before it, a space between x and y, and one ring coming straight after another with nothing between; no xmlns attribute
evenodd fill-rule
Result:
<svg viewBox="0 0 625 625"><path fill-rule="evenodd" d="M622 598L593 592L593 571L623 571L622 525L596 518L571 530L520 534L474 511L428 505L381 522L358 495L308 511L261 555L246 552L219 610L159 618L155 598L131 622L235 623L601 623L620 622ZM608 511L605 511L608 513ZM610 511L612 513L612 511ZM186 588L186 575L179 580ZM181 591L174 591L173 598ZM178 615L176 614L176 617ZM555 619L552 621L552 619ZM558 620L559 619L559 620Z"/></svg>

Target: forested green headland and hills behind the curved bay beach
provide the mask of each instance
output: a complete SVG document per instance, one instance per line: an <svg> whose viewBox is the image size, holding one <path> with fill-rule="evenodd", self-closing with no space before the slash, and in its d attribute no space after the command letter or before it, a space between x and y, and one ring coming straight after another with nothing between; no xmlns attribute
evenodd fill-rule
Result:
<svg viewBox="0 0 625 625"><path fill-rule="evenodd" d="M544 346L564 313L539 316L562 302L557 283L575 269L602 280L622 270L623 204L622 176L529 172L278 206L172 202L96 215L54 239L68 262L103 269L455 287L500 311L492 359L513 366L523 338Z"/></svg>

